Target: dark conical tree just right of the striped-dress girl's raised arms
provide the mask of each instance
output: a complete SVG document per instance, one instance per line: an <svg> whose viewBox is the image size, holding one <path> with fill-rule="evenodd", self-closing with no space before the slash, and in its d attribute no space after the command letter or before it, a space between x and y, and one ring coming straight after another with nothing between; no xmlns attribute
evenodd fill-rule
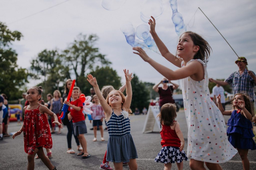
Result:
<svg viewBox="0 0 256 170"><path fill-rule="evenodd" d="M138 79L136 74L133 74L134 78L131 81L132 84L132 103L131 109L134 112L135 108L140 109L142 112L143 107L149 105L150 93L146 88L145 84ZM124 94L126 95L125 91Z"/></svg>

